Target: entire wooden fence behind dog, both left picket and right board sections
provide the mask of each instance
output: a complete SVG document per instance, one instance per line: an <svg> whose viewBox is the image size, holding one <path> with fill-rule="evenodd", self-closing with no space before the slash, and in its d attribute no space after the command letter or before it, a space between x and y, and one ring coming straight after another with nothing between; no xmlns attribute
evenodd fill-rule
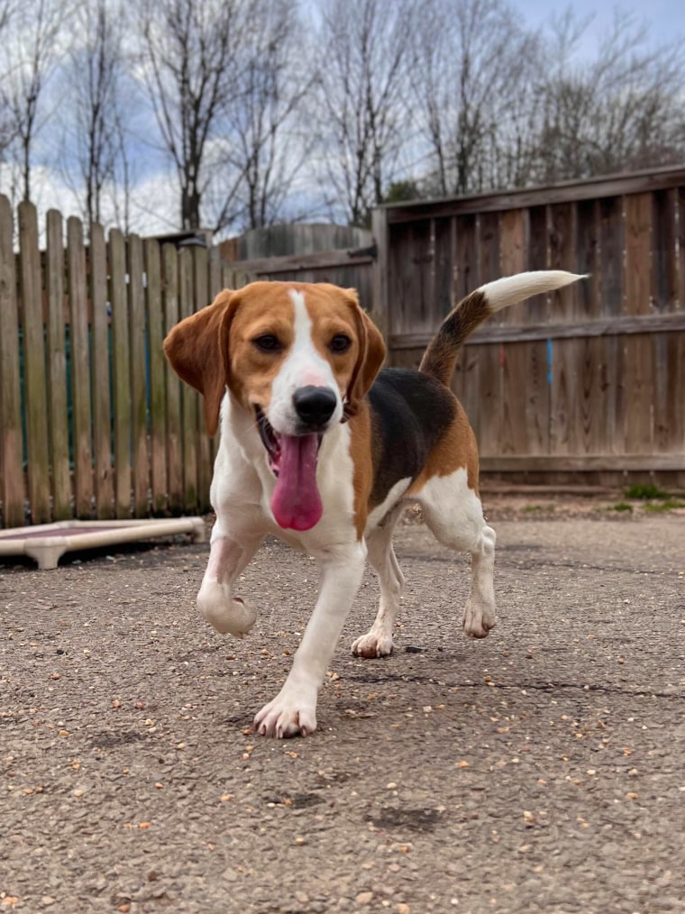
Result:
<svg viewBox="0 0 685 914"><path fill-rule="evenodd" d="M66 231L65 231L66 228ZM214 442L163 359L166 331L244 271L355 282L395 365L500 275L588 272L472 335L454 388L487 473L685 486L685 169L381 207L374 250L227 264L0 197L2 526L204 510ZM369 246L371 248L371 246ZM326 258L332 260L325 264ZM333 272L338 267L345 275ZM364 288L364 285L363 285Z"/></svg>

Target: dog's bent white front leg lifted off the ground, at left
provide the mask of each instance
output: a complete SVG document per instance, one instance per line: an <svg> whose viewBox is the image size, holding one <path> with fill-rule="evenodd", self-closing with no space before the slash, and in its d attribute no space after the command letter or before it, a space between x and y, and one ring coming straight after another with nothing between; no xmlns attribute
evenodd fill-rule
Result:
<svg viewBox="0 0 685 914"><path fill-rule="evenodd" d="M197 608L217 632L230 632L237 638L247 634L257 619L254 607L233 596L233 582L258 549L263 537L238 540L221 531L218 523L212 532L212 545L205 577L197 594Z"/></svg>

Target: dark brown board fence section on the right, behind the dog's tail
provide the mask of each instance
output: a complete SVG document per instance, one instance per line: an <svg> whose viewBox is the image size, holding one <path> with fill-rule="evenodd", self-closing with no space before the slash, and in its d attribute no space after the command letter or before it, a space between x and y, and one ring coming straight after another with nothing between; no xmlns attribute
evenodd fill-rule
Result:
<svg viewBox="0 0 685 914"><path fill-rule="evenodd" d="M685 485L685 169L384 207L374 234L374 314L395 365L416 366L484 282L590 273L470 337L454 389L485 471Z"/></svg>

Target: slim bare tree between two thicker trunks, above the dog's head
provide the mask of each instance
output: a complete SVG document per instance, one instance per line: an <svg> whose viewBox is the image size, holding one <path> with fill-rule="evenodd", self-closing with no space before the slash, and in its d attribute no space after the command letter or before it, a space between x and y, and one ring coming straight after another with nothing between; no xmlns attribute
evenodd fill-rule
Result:
<svg viewBox="0 0 685 914"><path fill-rule="evenodd" d="M281 218L313 139L298 123L313 75L306 55L293 55L303 31L296 0L253 0L247 25L237 57L238 91L224 107L226 132L216 148L216 231Z"/></svg>

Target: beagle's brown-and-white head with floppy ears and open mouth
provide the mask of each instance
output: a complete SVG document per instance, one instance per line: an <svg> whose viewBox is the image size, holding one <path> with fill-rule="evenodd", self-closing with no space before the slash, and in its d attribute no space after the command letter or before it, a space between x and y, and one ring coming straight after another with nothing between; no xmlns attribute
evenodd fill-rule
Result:
<svg viewBox="0 0 685 914"><path fill-rule="evenodd" d="M210 434L229 388L257 421L277 491L306 492L310 484L315 488L321 437L359 409L385 344L353 290L323 282L252 282L220 292L177 324L164 351L180 377L203 394ZM279 523L287 521L289 512L279 519L277 507ZM305 511L301 523L313 526L315 514Z"/></svg>

